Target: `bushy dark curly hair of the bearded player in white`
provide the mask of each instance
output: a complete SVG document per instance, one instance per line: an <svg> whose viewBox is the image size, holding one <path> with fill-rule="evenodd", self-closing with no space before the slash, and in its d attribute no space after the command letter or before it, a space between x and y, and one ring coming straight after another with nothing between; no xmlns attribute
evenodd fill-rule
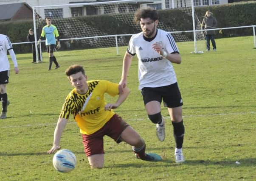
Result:
<svg viewBox="0 0 256 181"><path fill-rule="evenodd" d="M134 21L138 24L141 21L141 18L150 18L153 21L156 21L158 20L158 11L151 7L146 9L138 9L134 15Z"/></svg>

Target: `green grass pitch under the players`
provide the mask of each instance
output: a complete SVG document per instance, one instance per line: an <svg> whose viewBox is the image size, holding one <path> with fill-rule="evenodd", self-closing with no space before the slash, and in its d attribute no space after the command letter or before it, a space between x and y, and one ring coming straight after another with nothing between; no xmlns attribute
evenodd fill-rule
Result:
<svg viewBox="0 0 256 181"><path fill-rule="evenodd" d="M101 170L88 165L79 128L70 119L62 134L62 149L76 154L77 164L70 173L58 173L53 143L62 103L70 92L65 69L82 64L90 80L107 79L118 83L126 47L84 51L59 51L58 70L48 71L48 60L31 64L31 54L17 55L18 75L11 70L7 86L8 118L0 120L1 181L205 181L256 180L256 49L253 38L217 39L217 52L191 54L193 42L178 43L182 64L174 64L182 93L186 129L183 152L186 162L174 162L174 138L168 112L166 139L159 142L155 125L147 118L138 90L138 61L129 72L131 93L115 110L141 134L147 152L163 156L162 162L137 160L131 147L104 137L105 164ZM192 49L192 50L191 50ZM15 50L15 47L14 47ZM100 54L99 54L100 53ZM92 56L93 55L93 56ZM44 57L47 55L44 53ZM11 62L11 69L13 64ZM108 101L113 101L106 96ZM238 161L241 164L235 164Z"/></svg>

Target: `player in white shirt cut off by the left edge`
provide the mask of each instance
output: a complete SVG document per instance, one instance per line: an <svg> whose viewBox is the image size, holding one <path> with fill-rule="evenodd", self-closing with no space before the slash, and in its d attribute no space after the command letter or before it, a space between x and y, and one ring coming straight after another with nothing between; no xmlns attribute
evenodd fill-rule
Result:
<svg viewBox="0 0 256 181"><path fill-rule="evenodd" d="M10 64L7 57L7 50L14 64L15 73L19 73L17 59L12 49L8 36L0 34L0 100L2 101L2 114L0 119L6 118L7 106L10 104L6 93L6 85L9 83Z"/></svg>

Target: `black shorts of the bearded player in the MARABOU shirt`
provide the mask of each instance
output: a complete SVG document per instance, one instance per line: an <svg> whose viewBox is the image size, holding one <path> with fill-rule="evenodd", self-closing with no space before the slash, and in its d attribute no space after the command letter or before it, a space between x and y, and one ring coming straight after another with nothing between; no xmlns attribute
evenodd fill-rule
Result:
<svg viewBox="0 0 256 181"><path fill-rule="evenodd" d="M144 105L153 100L161 103L162 99L164 106L169 108L175 108L183 105L177 82L169 86L143 87L141 94L143 96Z"/></svg>

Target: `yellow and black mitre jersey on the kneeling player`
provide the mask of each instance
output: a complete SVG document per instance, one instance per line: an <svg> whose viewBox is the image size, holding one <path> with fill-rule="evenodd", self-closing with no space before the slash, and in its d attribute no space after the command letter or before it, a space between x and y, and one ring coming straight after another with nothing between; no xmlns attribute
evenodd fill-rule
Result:
<svg viewBox="0 0 256 181"><path fill-rule="evenodd" d="M105 80L88 81L89 89L81 95L73 89L62 106L59 117L68 119L73 114L81 134L93 134L104 126L115 114L113 110L105 111L107 104L104 93L118 95L118 84Z"/></svg>

